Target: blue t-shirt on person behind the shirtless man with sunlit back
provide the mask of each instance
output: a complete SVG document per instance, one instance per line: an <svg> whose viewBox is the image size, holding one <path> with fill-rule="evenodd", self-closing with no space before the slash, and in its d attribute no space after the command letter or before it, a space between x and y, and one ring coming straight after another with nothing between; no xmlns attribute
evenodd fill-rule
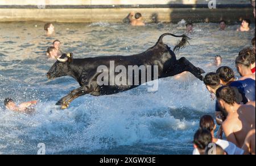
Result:
<svg viewBox="0 0 256 166"><path fill-rule="evenodd" d="M236 92L237 103L246 104L248 101L255 101L255 81L253 79L234 81L229 86L236 87L234 91ZM221 111L218 101L216 101L215 110L216 112Z"/></svg>

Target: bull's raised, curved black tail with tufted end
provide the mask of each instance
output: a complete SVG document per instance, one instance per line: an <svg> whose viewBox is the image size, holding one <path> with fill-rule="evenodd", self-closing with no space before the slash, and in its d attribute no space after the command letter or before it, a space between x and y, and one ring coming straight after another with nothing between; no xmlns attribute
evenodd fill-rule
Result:
<svg viewBox="0 0 256 166"><path fill-rule="evenodd" d="M181 40L179 40L177 45L174 47L174 51L179 51L180 48L183 49L183 48L185 48L185 46L187 44L189 44L188 40L190 40L190 38L188 38L187 35L178 36L178 35L174 35L171 33L166 33L166 34L161 35L160 38L158 39L158 43L156 43L156 44L163 43L163 38L164 38L164 36L167 36L167 35L174 36L175 38L182 38Z"/></svg>

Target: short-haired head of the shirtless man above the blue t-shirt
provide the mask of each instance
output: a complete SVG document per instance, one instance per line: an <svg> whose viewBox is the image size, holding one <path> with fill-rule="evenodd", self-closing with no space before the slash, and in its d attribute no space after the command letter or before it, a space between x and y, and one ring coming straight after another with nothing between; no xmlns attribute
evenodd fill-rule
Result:
<svg viewBox="0 0 256 166"><path fill-rule="evenodd" d="M246 70L251 70L251 59L250 55L239 55L236 59L236 68L240 76L243 77L243 73Z"/></svg>

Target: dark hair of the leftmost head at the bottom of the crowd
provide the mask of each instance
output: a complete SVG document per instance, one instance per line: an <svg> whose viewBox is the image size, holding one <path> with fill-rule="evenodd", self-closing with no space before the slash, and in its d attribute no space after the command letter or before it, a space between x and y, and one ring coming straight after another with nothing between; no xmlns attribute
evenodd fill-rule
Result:
<svg viewBox="0 0 256 166"><path fill-rule="evenodd" d="M209 143L212 143L212 134L205 129L199 129L194 135L193 143L199 148L199 150L205 150Z"/></svg>

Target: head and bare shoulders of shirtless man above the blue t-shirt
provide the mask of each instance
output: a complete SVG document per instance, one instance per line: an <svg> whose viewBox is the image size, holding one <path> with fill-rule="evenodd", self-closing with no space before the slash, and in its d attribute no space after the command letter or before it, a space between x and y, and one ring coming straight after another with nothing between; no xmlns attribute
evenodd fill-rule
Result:
<svg viewBox="0 0 256 166"><path fill-rule="evenodd" d="M250 55L240 55L236 59L237 72L241 78L239 80L246 80L251 78L255 80L255 74L251 72L251 59Z"/></svg>

